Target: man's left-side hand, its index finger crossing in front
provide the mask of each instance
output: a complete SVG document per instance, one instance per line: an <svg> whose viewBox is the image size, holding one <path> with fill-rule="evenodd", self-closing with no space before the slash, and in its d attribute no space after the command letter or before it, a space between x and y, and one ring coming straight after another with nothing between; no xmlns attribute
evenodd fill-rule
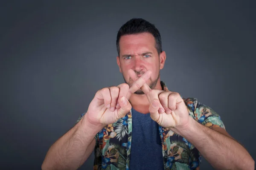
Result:
<svg viewBox="0 0 256 170"><path fill-rule="evenodd" d="M128 101L131 94L139 90L150 76L151 71L147 71L130 87L123 83L97 91L85 114L88 122L96 127L104 127L124 117L131 110Z"/></svg>

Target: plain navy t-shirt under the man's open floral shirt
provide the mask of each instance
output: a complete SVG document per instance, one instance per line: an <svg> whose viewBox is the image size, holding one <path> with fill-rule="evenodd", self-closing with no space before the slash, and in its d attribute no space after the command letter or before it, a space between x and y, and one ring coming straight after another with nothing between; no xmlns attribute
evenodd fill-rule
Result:
<svg viewBox="0 0 256 170"><path fill-rule="evenodd" d="M130 170L163 170L162 144L158 124L150 114L132 108Z"/></svg>

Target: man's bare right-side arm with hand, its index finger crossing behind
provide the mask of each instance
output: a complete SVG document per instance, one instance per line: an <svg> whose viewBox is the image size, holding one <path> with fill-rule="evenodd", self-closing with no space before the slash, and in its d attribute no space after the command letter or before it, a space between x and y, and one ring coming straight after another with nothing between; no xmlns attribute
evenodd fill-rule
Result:
<svg viewBox="0 0 256 170"><path fill-rule="evenodd" d="M137 75L129 71L132 79ZM216 169L242 169L254 170L254 160L234 139L227 134L221 134L209 127L201 125L189 116L187 105L177 92L151 89L147 84L141 90L148 98L150 117L163 127L169 127L173 132L186 138ZM189 101L189 105L195 105L195 101ZM162 108L164 109L162 109ZM198 107L194 107L194 109ZM200 110L200 109L199 109ZM210 109L203 110L204 117ZM210 114L211 115L211 114ZM216 115L215 115L216 116Z"/></svg>

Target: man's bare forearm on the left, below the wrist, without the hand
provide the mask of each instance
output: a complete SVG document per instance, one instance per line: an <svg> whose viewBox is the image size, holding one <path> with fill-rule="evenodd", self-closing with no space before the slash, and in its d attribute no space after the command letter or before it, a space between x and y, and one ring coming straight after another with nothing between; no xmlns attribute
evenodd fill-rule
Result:
<svg viewBox="0 0 256 170"><path fill-rule="evenodd" d="M94 136L101 130L83 118L50 147L42 170L75 170L90 156L95 147Z"/></svg>

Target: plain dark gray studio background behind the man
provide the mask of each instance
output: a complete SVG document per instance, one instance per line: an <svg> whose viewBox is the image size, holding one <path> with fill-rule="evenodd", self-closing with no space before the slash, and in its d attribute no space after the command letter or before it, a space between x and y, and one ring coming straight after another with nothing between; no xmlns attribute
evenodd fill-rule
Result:
<svg viewBox="0 0 256 170"><path fill-rule="evenodd" d="M213 108L256 159L255 16L246 0L1 1L0 169L40 169L96 91L123 82L115 41L132 17L159 29L168 88Z"/></svg>

